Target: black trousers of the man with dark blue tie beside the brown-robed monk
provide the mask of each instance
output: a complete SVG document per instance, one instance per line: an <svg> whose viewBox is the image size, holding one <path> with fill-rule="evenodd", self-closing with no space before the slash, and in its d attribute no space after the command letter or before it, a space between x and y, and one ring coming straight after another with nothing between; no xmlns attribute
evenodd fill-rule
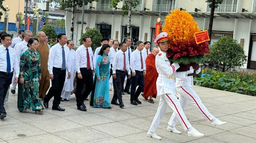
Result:
<svg viewBox="0 0 256 143"><path fill-rule="evenodd" d="M48 94L45 96L44 102L49 102L51 98L54 97L52 106L57 107L60 104L61 91L63 89L66 79L66 70L61 70L60 68L53 67L52 72L52 87L50 88Z"/></svg>

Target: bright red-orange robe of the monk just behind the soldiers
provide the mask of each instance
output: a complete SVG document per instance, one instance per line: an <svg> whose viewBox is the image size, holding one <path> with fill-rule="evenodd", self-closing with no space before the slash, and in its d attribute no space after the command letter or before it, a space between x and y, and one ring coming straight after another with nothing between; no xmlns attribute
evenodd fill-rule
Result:
<svg viewBox="0 0 256 143"><path fill-rule="evenodd" d="M143 97L145 99L148 96L152 96L154 98L157 97L157 69L156 69L156 56L153 53L150 53L146 57L146 75L144 77L144 92Z"/></svg>

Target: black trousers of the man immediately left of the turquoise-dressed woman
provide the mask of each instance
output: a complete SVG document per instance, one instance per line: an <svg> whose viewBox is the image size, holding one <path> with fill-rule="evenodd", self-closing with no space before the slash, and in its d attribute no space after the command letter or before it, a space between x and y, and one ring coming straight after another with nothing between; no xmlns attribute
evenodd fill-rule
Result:
<svg viewBox="0 0 256 143"><path fill-rule="evenodd" d="M76 73L76 105L79 107L86 100L88 95L93 90L93 71L92 69L80 68L82 79L77 77ZM83 85L86 85L86 91L82 95Z"/></svg>

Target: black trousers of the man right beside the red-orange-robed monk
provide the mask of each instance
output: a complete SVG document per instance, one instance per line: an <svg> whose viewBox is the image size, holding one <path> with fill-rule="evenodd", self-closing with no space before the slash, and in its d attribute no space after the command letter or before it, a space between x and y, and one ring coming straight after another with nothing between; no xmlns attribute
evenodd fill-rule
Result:
<svg viewBox="0 0 256 143"><path fill-rule="evenodd" d="M144 75L141 71L135 71L136 75L132 76L132 84L131 84L131 101L137 99L144 89ZM137 88L137 86L139 87ZM137 88L137 90L136 90Z"/></svg>

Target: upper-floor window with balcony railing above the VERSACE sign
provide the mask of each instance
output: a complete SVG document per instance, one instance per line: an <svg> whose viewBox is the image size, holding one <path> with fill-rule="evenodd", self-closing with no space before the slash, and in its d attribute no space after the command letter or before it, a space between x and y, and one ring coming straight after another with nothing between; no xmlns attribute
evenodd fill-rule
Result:
<svg viewBox="0 0 256 143"><path fill-rule="evenodd" d="M238 0L224 0L222 4L215 9L215 12L237 12ZM207 12L210 12L209 3L207 3Z"/></svg>

